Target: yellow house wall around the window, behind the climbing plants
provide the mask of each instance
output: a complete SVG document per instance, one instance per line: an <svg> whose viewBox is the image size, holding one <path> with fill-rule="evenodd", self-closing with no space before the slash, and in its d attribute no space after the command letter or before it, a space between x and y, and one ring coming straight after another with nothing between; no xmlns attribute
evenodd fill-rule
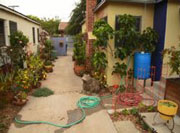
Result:
<svg viewBox="0 0 180 133"><path fill-rule="evenodd" d="M133 16L142 16L141 30L146 27L153 27L154 5L136 4L136 3L116 3L111 2L105 5L96 13L96 20L108 17L108 23L115 29L115 17L121 14L131 14ZM109 41L109 44L114 52L114 39ZM107 48L108 66L106 69L108 85L119 84L119 77L112 75L114 63L119 61L113 58L112 52ZM130 67L133 66L133 59L131 59Z"/></svg>

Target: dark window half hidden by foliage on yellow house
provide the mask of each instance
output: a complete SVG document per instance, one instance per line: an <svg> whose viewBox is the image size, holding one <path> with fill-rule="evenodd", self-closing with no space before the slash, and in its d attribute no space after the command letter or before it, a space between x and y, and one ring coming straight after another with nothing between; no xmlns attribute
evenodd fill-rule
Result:
<svg viewBox="0 0 180 133"><path fill-rule="evenodd" d="M141 32L141 16L134 16L135 19L136 19L136 30ZM119 16L116 16L115 18L115 30L119 30L120 29L120 26L118 24L118 19L119 19ZM119 46L119 41L118 41L118 36L115 35L115 47L118 47Z"/></svg>

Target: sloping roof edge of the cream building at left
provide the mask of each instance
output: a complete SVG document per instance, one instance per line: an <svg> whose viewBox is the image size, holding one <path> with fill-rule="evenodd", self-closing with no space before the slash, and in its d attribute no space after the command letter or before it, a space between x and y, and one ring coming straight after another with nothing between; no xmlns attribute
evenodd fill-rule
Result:
<svg viewBox="0 0 180 133"><path fill-rule="evenodd" d="M30 18L27 17L26 15L24 15L24 14L18 12L18 11L15 11L15 10L7 7L7 6L4 6L4 5L2 5L2 4L0 4L0 10L4 10L4 11L9 12L9 13L12 13L12 14L14 14L14 15L16 15L16 16L19 16L19 17L21 17L21 18L23 18L23 19L25 19L25 20L27 20L27 21L30 21L30 22L35 23L35 24L37 24L37 25L40 25L40 23L38 23L38 22L30 19Z"/></svg>

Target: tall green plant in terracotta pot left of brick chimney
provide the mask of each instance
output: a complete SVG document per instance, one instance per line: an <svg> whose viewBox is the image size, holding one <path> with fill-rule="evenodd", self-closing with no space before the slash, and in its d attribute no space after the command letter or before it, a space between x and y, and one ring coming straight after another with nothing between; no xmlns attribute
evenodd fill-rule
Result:
<svg viewBox="0 0 180 133"><path fill-rule="evenodd" d="M85 42L82 40L81 35L76 36L76 42L74 44L74 72L78 76L82 76L86 70L85 62L86 62L86 49Z"/></svg>

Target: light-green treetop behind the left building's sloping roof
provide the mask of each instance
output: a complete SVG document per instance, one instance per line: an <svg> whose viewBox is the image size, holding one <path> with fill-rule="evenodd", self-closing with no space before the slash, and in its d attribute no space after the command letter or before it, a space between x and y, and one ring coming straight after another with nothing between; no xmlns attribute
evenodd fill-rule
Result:
<svg viewBox="0 0 180 133"><path fill-rule="evenodd" d="M38 18L33 15L28 15L29 18L37 21L41 24L42 28L46 30L50 35L57 35L58 34L58 27L60 20L57 18Z"/></svg>

